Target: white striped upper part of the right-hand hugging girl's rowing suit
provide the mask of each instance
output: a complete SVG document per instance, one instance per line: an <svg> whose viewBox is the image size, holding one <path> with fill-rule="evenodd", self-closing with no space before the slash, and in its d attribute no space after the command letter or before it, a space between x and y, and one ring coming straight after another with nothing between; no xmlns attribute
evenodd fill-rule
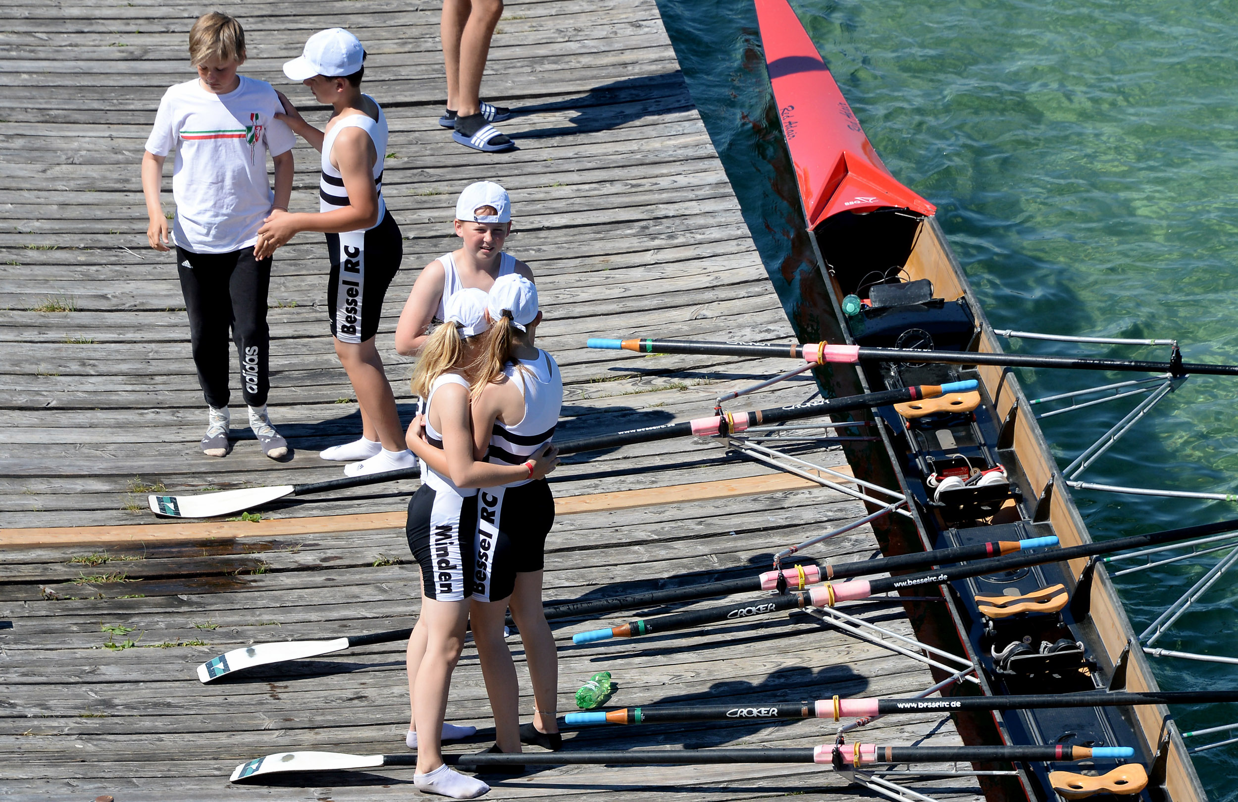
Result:
<svg viewBox="0 0 1238 802"><path fill-rule="evenodd" d="M543 350L537 351L537 359L508 364L503 375L520 387L520 395L525 399L525 417L510 426L494 422L485 459L500 465L519 465L540 452L555 436L558 412L563 407L563 377L558 373L558 363ZM508 486L527 483L529 479L525 479Z"/></svg>

